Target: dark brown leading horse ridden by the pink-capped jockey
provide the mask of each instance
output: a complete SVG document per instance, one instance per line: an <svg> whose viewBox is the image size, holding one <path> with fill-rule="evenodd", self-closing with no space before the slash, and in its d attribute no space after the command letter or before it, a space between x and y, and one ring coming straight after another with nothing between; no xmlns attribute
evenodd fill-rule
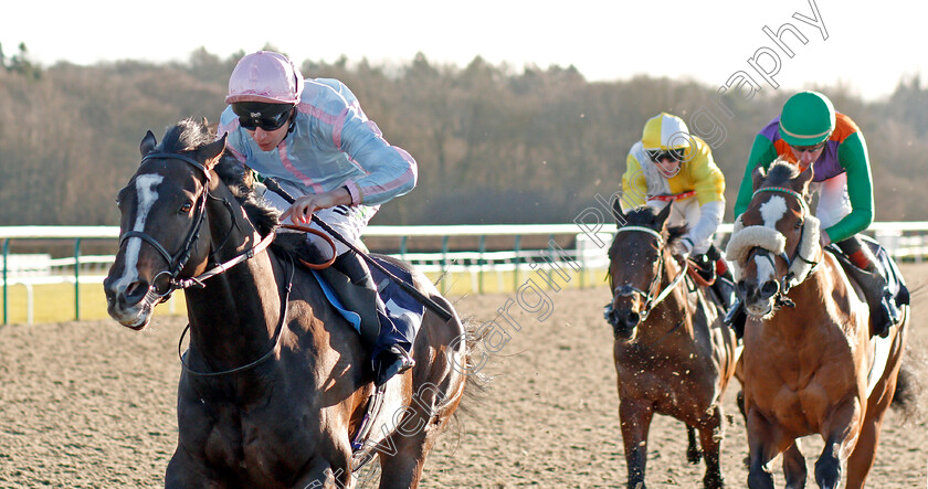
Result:
<svg viewBox="0 0 928 489"><path fill-rule="evenodd" d="M381 488L416 487L425 456L461 402L466 344L456 315L426 310L415 366L373 392L369 352L324 299L309 272L276 245L276 212L204 124L182 120L119 192L122 240L105 281L109 313L140 330L152 308L184 288L189 350L178 389L172 488L352 487L359 460L380 459ZM422 275L415 287L453 311ZM357 439L355 439L357 442ZM352 460L354 456L354 460Z"/></svg>

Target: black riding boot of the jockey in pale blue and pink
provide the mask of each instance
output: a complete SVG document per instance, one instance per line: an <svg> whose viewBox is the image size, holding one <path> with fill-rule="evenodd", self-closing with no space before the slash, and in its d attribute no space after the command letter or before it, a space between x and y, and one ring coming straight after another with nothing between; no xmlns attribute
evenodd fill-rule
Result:
<svg viewBox="0 0 928 489"><path fill-rule="evenodd" d="M380 386L393 375L414 366L415 361L409 354L411 346L400 344L393 331L381 328L380 317L382 315L387 320L387 308L363 259L348 252L336 258L333 268L350 279L351 286L346 286L347 280L342 279L335 289L345 306L361 317L361 339L371 351L375 384Z"/></svg>

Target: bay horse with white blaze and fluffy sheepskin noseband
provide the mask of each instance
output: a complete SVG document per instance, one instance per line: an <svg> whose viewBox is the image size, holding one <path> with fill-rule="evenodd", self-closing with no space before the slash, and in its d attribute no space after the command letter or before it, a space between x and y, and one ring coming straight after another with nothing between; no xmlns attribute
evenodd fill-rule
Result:
<svg viewBox="0 0 928 489"><path fill-rule="evenodd" d="M871 338L860 287L819 242L810 214L812 169L777 161L753 173L755 194L735 224L727 257L749 316L745 408L751 488L772 488L768 463L784 453L787 487L805 485L802 436L825 442L815 463L823 488L864 486L897 386L908 306L888 338Z"/></svg>

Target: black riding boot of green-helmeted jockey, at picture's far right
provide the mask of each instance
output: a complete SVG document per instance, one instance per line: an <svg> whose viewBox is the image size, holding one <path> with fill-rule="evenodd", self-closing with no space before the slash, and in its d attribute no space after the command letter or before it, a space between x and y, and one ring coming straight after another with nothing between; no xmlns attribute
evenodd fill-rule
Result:
<svg viewBox="0 0 928 489"><path fill-rule="evenodd" d="M853 243L848 243L852 241ZM861 268L854 263L855 266L845 267L845 270L860 284L864 298L869 306L871 325L873 326L871 336L879 334L882 338L886 338L889 334L889 328L898 325L901 319L901 312L896 307L896 298L889 290L886 277L874 264L873 256L863 251L862 246L864 245L856 237L847 238L839 243L837 246L848 257L854 255L851 258L852 263L855 262L855 258L857 262L866 259L866 267Z"/></svg>

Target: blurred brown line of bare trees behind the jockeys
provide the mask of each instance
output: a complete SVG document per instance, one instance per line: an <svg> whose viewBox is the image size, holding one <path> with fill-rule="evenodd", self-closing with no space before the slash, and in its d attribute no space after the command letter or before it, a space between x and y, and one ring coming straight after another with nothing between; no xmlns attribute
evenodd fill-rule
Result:
<svg viewBox="0 0 928 489"><path fill-rule="evenodd" d="M244 53L223 60L201 49L184 63L46 68L25 54L21 46L19 70L0 55L0 225L117 224L114 198L138 164L145 131L160 139L180 118L217 120ZM715 107L718 116L718 104L730 118L719 117L726 136L710 142L726 174L730 221L753 137L791 95L719 98L718 86L692 81L590 83L572 66L516 73L481 57L456 67L421 54L404 66L341 59L306 61L302 70L344 81L384 137L419 161L419 187L387 204L375 224L570 222L597 193L620 190L625 156L648 117L665 110L692 123L700 109ZM928 220L920 199L928 188L928 96L920 79L900 81L879 103L843 87L812 88L864 130L877 220Z"/></svg>

